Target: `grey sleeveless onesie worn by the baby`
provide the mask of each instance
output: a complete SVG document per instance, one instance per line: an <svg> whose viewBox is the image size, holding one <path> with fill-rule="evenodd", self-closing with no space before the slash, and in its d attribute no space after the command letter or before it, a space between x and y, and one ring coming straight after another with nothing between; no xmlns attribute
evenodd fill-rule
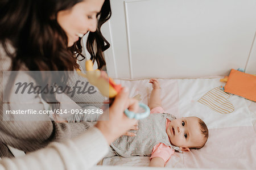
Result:
<svg viewBox="0 0 256 170"><path fill-rule="evenodd" d="M166 133L166 118L169 120L176 119L168 113L151 113L150 116L139 121L139 130L137 136L129 137L123 135L115 140L112 144L112 151L106 156L151 156L153 147L158 143L164 143L171 146L179 152L180 148L172 146Z"/></svg>

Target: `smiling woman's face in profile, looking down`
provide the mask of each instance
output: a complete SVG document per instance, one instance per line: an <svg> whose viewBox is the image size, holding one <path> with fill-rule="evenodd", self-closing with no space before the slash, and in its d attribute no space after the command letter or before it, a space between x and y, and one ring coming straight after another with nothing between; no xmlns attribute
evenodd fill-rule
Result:
<svg viewBox="0 0 256 170"><path fill-rule="evenodd" d="M97 29L97 14L105 0L84 0L68 10L57 13L57 22L68 36L68 46Z"/></svg>

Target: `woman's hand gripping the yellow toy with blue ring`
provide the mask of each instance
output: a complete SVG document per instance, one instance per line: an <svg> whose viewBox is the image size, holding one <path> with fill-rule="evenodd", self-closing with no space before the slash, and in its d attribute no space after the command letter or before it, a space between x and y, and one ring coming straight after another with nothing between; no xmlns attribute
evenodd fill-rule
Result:
<svg viewBox="0 0 256 170"><path fill-rule="evenodd" d="M133 112L137 112L139 108L138 100L130 99L128 96L129 90L122 88L109 110L102 114L101 120L104 121L98 121L95 125L109 144L122 134L125 134L126 131L133 129L134 125L138 122L135 119L126 117L125 113L123 113L127 108Z"/></svg>

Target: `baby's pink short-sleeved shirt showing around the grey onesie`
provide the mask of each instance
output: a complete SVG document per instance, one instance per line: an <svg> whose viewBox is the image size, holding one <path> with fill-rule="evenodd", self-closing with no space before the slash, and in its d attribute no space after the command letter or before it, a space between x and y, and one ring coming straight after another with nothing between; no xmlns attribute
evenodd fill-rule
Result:
<svg viewBox="0 0 256 170"><path fill-rule="evenodd" d="M164 113L164 109L162 107L156 107L151 109L150 113ZM168 125L170 124L170 120L168 118L166 119L166 129ZM150 159L152 158L162 158L164 160L164 163L166 163L172 154L174 154L174 150L170 146L166 146L163 143L156 144L152 149L152 154L150 156Z"/></svg>

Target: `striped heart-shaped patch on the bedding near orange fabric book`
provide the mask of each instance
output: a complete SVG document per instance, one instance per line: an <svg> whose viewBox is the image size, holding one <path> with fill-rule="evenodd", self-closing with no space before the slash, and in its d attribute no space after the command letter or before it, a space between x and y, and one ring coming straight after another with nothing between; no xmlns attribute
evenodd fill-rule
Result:
<svg viewBox="0 0 256 170"><path fill-rule="evenodd" d="M229 94L220 90L220 87L216 87L201 97L199 103L207 105L218 113L231 113L234 111L234 106L227 100L229 96Z"/></svg>

